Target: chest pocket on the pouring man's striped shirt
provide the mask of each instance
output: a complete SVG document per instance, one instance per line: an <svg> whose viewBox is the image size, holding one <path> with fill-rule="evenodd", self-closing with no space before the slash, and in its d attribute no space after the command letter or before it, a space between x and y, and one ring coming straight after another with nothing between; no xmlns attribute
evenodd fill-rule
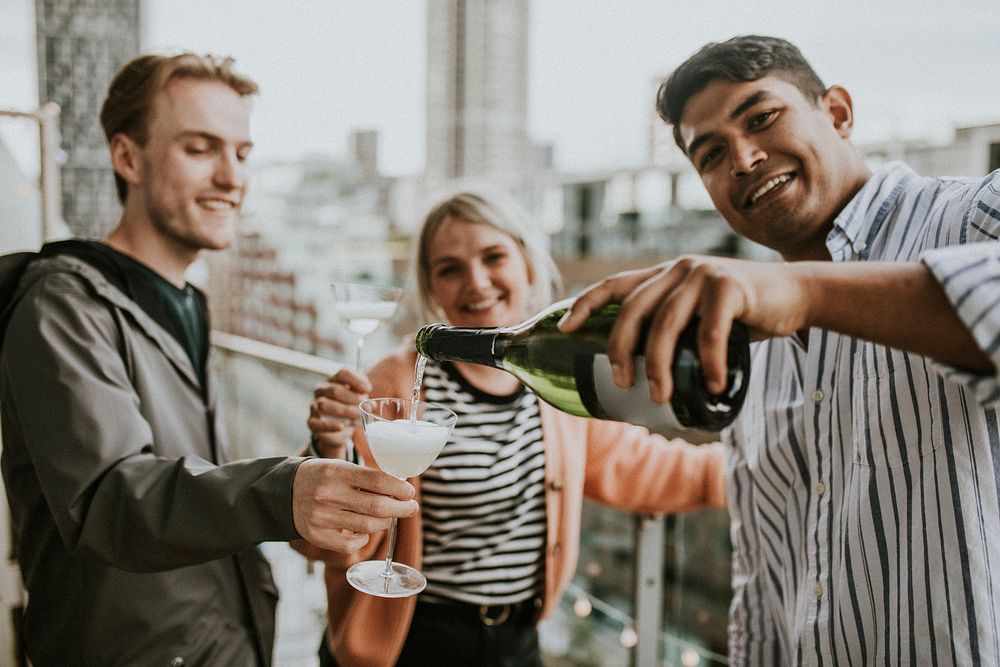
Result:
<svg viewBox="0 0 1000 667"><path fill-rule="evenodd" d="M937 449L931 419L935 375L917 355L871 343L858 350L851 411L854 463L909 466Z"/></svg>

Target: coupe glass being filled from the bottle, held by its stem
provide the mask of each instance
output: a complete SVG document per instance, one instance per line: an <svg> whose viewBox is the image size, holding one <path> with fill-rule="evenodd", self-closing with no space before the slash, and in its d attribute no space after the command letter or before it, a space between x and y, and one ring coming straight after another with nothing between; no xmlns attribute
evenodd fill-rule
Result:
<svg viewBox="0 0 1000 667"><path fill-rule="evenodd" d="M375 462L385 472L416 477L434 462L448 442L458 417L448 408L404 398L370 398L361 402L361 424ZM347 581L359 591L383 598L402 598L424 590L427 579L416 568L392 560L396 520L389 527L385 560L355 563Z"/></svg>

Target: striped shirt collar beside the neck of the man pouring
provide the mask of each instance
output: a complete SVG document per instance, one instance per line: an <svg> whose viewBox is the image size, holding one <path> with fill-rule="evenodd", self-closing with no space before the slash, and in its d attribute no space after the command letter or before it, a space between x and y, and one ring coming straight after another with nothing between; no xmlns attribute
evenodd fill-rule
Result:
<svg viewBox="0 0 1000 667"><path fill-rule="evenodd" d="M831 257L843 260L853 254L866 259L903 187L915 177L902 162L890 162L872 174L833 221L826 237Z"/></svg>

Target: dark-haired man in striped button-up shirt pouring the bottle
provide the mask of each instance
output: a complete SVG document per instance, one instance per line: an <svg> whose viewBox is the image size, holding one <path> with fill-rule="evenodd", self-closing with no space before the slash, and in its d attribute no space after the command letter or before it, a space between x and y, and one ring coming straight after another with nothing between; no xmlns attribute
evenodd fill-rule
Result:
<svg viewBox="0 0 1000 667"><path fill-rule="evenodd" d="M730 444L734 664L1000 664L1000 174L871 173L850 95L784 40L709 44L661 87L712 200L784 264L687 257L588 290L625 300L609 356L671 390L692 314L709 388L756 338ZM853 264L845 264L851 262Z"/></svg>

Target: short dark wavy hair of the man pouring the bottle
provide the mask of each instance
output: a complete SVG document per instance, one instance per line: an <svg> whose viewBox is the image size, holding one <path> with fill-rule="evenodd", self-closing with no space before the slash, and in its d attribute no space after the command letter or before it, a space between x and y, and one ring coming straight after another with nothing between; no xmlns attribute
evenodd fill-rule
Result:
<svg viewBox="0 0 1000 667"><path fill-rule="evenodd" d="M660 84L656 112L674 126L674 141L684 150L679 125L684 106L713 79L756 81L773 74L792 84L807 100L815 102L826 92L798 48L778 37L742 35L725 42L710 42L684 61Z"/></svg>

